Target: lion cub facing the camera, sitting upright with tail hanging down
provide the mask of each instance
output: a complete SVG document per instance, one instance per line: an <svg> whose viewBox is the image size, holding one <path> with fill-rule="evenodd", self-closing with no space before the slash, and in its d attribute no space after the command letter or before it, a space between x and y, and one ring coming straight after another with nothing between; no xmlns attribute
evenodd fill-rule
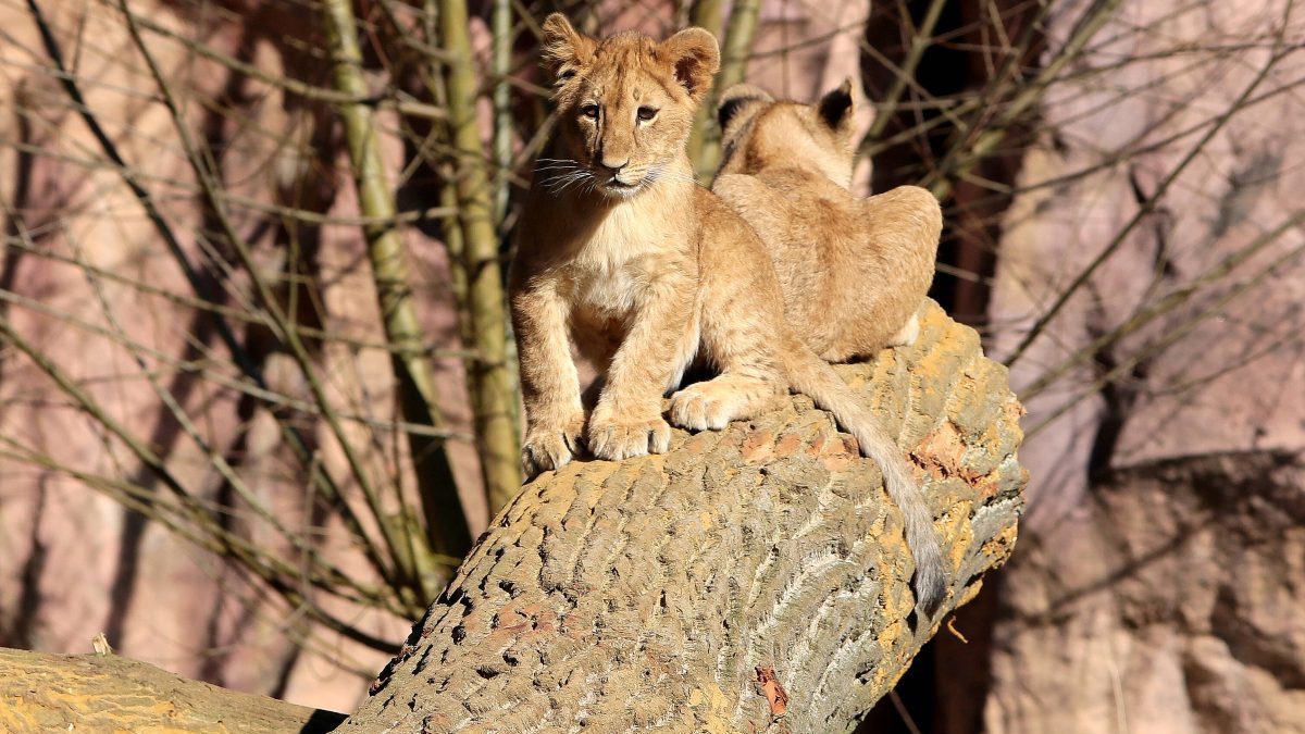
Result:
<svg viewBox="0 0 1305 734"><path fill-rule="evenodd" d="M557 13L543 30L557 128L510 274L526 474L569 462L582 436L599 458L667 451L662 396L696 358L718 375L671 398L671 419L685 428L724 428L803 392L882 468L906 517L919 605L932 615L946 572L903 455L788 328L753 230L693 179L685 142L719 67L715 38L694 27L660 43L633 33L598 40ZM604 376L587 423L573 343Z"/></svg>

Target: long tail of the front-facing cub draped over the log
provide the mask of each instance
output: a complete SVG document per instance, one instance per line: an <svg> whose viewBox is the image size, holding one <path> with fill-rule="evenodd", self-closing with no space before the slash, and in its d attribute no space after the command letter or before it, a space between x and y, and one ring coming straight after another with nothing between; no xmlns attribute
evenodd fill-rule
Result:
<svg viewBox="0 0 1305 734"><path fill-rule="evenodd" d="M906 520L906 542L915 558L916 605L932 618L946 593L947 572L933 530L933 513L911 478L906 456L829 363L799 338L791 337L791 342L795 342L792 349L786 351L792 355L787 364L792 388L833 413L834 419L856 438L861 453L880 465L883 486Z"/></svg>

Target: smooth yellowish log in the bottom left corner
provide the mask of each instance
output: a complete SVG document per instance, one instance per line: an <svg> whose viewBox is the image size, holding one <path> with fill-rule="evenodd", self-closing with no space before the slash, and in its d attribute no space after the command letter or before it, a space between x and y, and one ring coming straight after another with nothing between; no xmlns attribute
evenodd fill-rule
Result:
<svg viewBox="0 0 1305 734"><path fill-rule="evenodd" d="M322 734L345 714L187 680L107 654L0 648L0 731Z"/></svg>

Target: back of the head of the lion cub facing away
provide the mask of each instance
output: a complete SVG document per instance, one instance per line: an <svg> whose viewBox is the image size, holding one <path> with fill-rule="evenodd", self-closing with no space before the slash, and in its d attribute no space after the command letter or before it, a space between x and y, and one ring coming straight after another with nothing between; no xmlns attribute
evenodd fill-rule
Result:
<svg viewBox="0 0 1305 734"><path fill-rule="evenodd" d="M736 84L720 95L716 108L720 172L804 168L850 187L856 162L853 112L852 80L816 104L776 102L756 86Z"/></svg>

